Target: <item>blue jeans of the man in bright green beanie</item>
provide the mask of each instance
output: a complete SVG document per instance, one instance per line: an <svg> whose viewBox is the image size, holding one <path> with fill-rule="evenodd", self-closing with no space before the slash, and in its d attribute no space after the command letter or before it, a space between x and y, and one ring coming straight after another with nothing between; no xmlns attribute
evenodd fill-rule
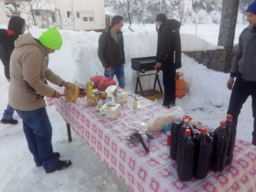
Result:
<svg viewBox="0 0 256 192"><path fill-rule="evenodd" d="M46 108L34 111L18 111L23 120L23 130L27 139L29 151L34 156L36 164L43 163L45 170L49 170L58 163L52 148L52 125Z"/></svg>

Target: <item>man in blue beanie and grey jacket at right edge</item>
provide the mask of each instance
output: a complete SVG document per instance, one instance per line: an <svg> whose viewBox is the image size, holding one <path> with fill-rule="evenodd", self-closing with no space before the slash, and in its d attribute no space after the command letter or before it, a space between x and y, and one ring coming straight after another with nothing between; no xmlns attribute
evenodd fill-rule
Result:
<svg viewBox="0 0 256 192"><path fill-rule="evenodd" d="M237 126L243 104L251 96L254 118L251 144L256 145L256 1L248 6L246 16L249 26L239 36L230 78L227 81L227 88L232 90L227 114L233 116L233 122Z"/></svg>

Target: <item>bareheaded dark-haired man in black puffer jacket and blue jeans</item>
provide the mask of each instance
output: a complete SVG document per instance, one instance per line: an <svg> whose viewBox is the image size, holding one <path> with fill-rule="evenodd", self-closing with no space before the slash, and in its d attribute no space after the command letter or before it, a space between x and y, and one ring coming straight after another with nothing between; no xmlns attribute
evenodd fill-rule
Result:
<svg viewBox="0 0 256 192"><path fill-rule="evenodd" d="M123 17L116 15L111 20L111 26L104 29L99 36L98 57L105 68L104 76L110 78L116 75L118 86L124 89L124 47L123 35Z"/></svg>

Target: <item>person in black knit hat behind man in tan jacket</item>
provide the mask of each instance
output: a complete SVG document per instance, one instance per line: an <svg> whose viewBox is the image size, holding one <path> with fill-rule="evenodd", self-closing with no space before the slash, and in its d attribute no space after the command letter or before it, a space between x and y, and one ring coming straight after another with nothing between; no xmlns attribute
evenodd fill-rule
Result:
<svg viewBox="0 0 256 192"><path fill-rule="evenodd" d="M5 68L5 77L10 82L10 57L14 50L14 41L19 35L24 34L26 27L25 19L18 16L13 16L9 20L8 30L0 29L0 59ZM2 124L17 124L18 121L12 118L14 109L10 106L9 102L0 121Z"/></svg>

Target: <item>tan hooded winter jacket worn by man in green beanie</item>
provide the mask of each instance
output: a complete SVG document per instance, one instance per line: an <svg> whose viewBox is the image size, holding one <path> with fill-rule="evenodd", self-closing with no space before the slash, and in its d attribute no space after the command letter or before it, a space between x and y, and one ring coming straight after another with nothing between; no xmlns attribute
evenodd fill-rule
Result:
<svg viewBox="0 0 256 192"><path fill-rule="evenodd" d="M48 68L47 52L30 33L20 36L14 45L10 59L9 103L19 111L45 107L43 96L52 97L55 94L46 80L57 86L64 80Z"/></svg>

